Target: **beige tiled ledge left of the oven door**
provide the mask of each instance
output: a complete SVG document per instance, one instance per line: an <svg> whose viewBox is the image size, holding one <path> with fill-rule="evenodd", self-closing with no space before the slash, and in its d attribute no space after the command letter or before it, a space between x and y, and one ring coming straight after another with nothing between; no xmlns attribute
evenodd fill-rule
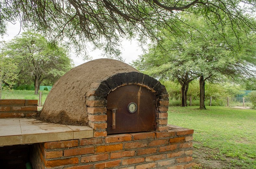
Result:
<svg viewBox="0 0 256 169"><path fill-rule="evenodd" d="M92 138L93 129L28 118L0 118L0 146Z"/></svg>

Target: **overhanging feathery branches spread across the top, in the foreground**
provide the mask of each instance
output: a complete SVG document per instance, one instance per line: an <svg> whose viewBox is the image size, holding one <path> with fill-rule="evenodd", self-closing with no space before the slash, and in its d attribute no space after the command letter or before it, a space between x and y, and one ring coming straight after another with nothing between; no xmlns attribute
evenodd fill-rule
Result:
<svg viewBox="0 0 256 169"><path fill-rule="evenodd" d="M120 37L158 40L163 28L175 33L184 14L202 16L211 27L221 25L220 32L227 21L234 33L245 32L245 27L255 30L249 15L255 6L253 0L1 0L0 33L5 32L7 22L18 20L22 27L43 32L53 40L68 38L67 43L72 42L78 50L90 41L115 54L119 53Z"/></svg>

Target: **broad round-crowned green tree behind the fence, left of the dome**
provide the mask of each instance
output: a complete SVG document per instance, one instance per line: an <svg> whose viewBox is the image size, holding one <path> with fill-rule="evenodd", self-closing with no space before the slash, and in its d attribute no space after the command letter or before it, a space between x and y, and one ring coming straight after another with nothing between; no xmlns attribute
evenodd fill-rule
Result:
<svg viewBox="0 0 256 169"><path fill-rule="evenodd" d="M3 87L11 88L14 84L33 84L35 94L41 84L53 85L73 63L67 50L60 44L48 43L40 34L24 32L20 36L2 42L0 73L12 76L1 76ZM5 82L5 84L3 84Z"/></svg>

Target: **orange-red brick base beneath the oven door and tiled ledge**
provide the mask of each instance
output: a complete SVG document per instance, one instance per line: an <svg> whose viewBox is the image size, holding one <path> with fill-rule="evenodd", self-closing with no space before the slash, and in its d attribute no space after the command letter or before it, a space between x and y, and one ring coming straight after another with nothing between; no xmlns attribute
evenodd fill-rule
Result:
<svg viewBox="0 0 256 169"><path fill-rule="evenodd" d="M168 132L36 143L31 162L37 169L191 168L194 130L168 127Z"/></svg>

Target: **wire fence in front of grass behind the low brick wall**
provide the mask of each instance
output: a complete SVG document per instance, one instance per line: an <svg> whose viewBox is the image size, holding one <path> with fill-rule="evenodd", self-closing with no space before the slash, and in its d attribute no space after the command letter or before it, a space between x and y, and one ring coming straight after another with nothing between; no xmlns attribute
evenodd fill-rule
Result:
<svg viewBox="0 0 256 169"><path fill-rule="evenodd" d="M40 92L42 95L40 95ZM33 90L2 90L0 93L1 99L35 99L38 100L39 106L44 105L46 96L48 94L49 91L46 90L38 91L37 95L35 95L35 91Z"/></svg>

